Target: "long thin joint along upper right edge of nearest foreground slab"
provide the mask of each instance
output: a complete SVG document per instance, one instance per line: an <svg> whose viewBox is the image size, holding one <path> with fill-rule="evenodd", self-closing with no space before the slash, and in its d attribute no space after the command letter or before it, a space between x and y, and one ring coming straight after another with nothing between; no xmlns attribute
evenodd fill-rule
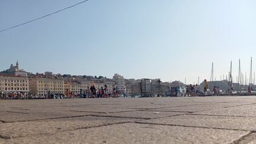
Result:
<svg viewBox="0 0 256 144"><path fill-rule="evenodd" d="M236 131L248 131L243 129L225 129L225 128L217 128L217 127L203 127L203 126L185 126L180 124L160 124L160 123L146 123L146 122L139 122L135 121L138 124L154 124L158 126L179 126L179 127L191 127L191 128L202 128L202 129L217 129L217 130L236 130Z"/></svg>

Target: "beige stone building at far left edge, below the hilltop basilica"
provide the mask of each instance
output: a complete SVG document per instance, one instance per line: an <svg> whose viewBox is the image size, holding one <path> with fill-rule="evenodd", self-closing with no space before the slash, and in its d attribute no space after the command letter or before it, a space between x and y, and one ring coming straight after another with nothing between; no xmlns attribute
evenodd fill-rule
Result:
<svg viewBox="0 0 256 144"><path fill-rule="evenodd" d="M24 76L0 75L0 91L2 92L28 92L28 78Z"/></svg>

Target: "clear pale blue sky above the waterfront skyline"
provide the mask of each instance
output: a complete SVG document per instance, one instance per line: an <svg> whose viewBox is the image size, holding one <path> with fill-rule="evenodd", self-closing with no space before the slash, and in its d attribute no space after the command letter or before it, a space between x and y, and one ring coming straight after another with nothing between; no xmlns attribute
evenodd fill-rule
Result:
<svg viewBox="0 0 256 144"><path fill-rule="evenodd" d="M0 2L0 29L80 2ZM66 11L0 33L0 69L18 59L33 73L114 73L124 78L185 80L187 84L228 74L238 59L256 71L254 0L89 0Z"/></svg>

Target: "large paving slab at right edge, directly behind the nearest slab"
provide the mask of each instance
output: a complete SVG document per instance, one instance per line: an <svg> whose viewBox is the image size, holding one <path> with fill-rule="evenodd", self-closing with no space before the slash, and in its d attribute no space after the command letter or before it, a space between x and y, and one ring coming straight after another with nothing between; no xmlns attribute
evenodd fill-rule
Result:
<svg viewBox="0 0 256 144"><path fill-rule="evenodd" d="M204 116L184 114L152 120L140 120L139 123L167 124L172 126L207 127L212 129L256 130L256 119L252 117Z"/></svg>

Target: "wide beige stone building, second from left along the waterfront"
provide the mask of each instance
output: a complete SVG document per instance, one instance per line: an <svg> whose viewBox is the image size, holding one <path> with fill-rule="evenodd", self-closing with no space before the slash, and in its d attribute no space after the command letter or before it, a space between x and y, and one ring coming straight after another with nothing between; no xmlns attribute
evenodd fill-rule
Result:
<svg viewBox="0 0 256 144"><path fill-rule="evenodd" d="M39 74L29 79L30 92L34 95L46 95L48 92L65 94L64 80L54 76Z"/></svg>

